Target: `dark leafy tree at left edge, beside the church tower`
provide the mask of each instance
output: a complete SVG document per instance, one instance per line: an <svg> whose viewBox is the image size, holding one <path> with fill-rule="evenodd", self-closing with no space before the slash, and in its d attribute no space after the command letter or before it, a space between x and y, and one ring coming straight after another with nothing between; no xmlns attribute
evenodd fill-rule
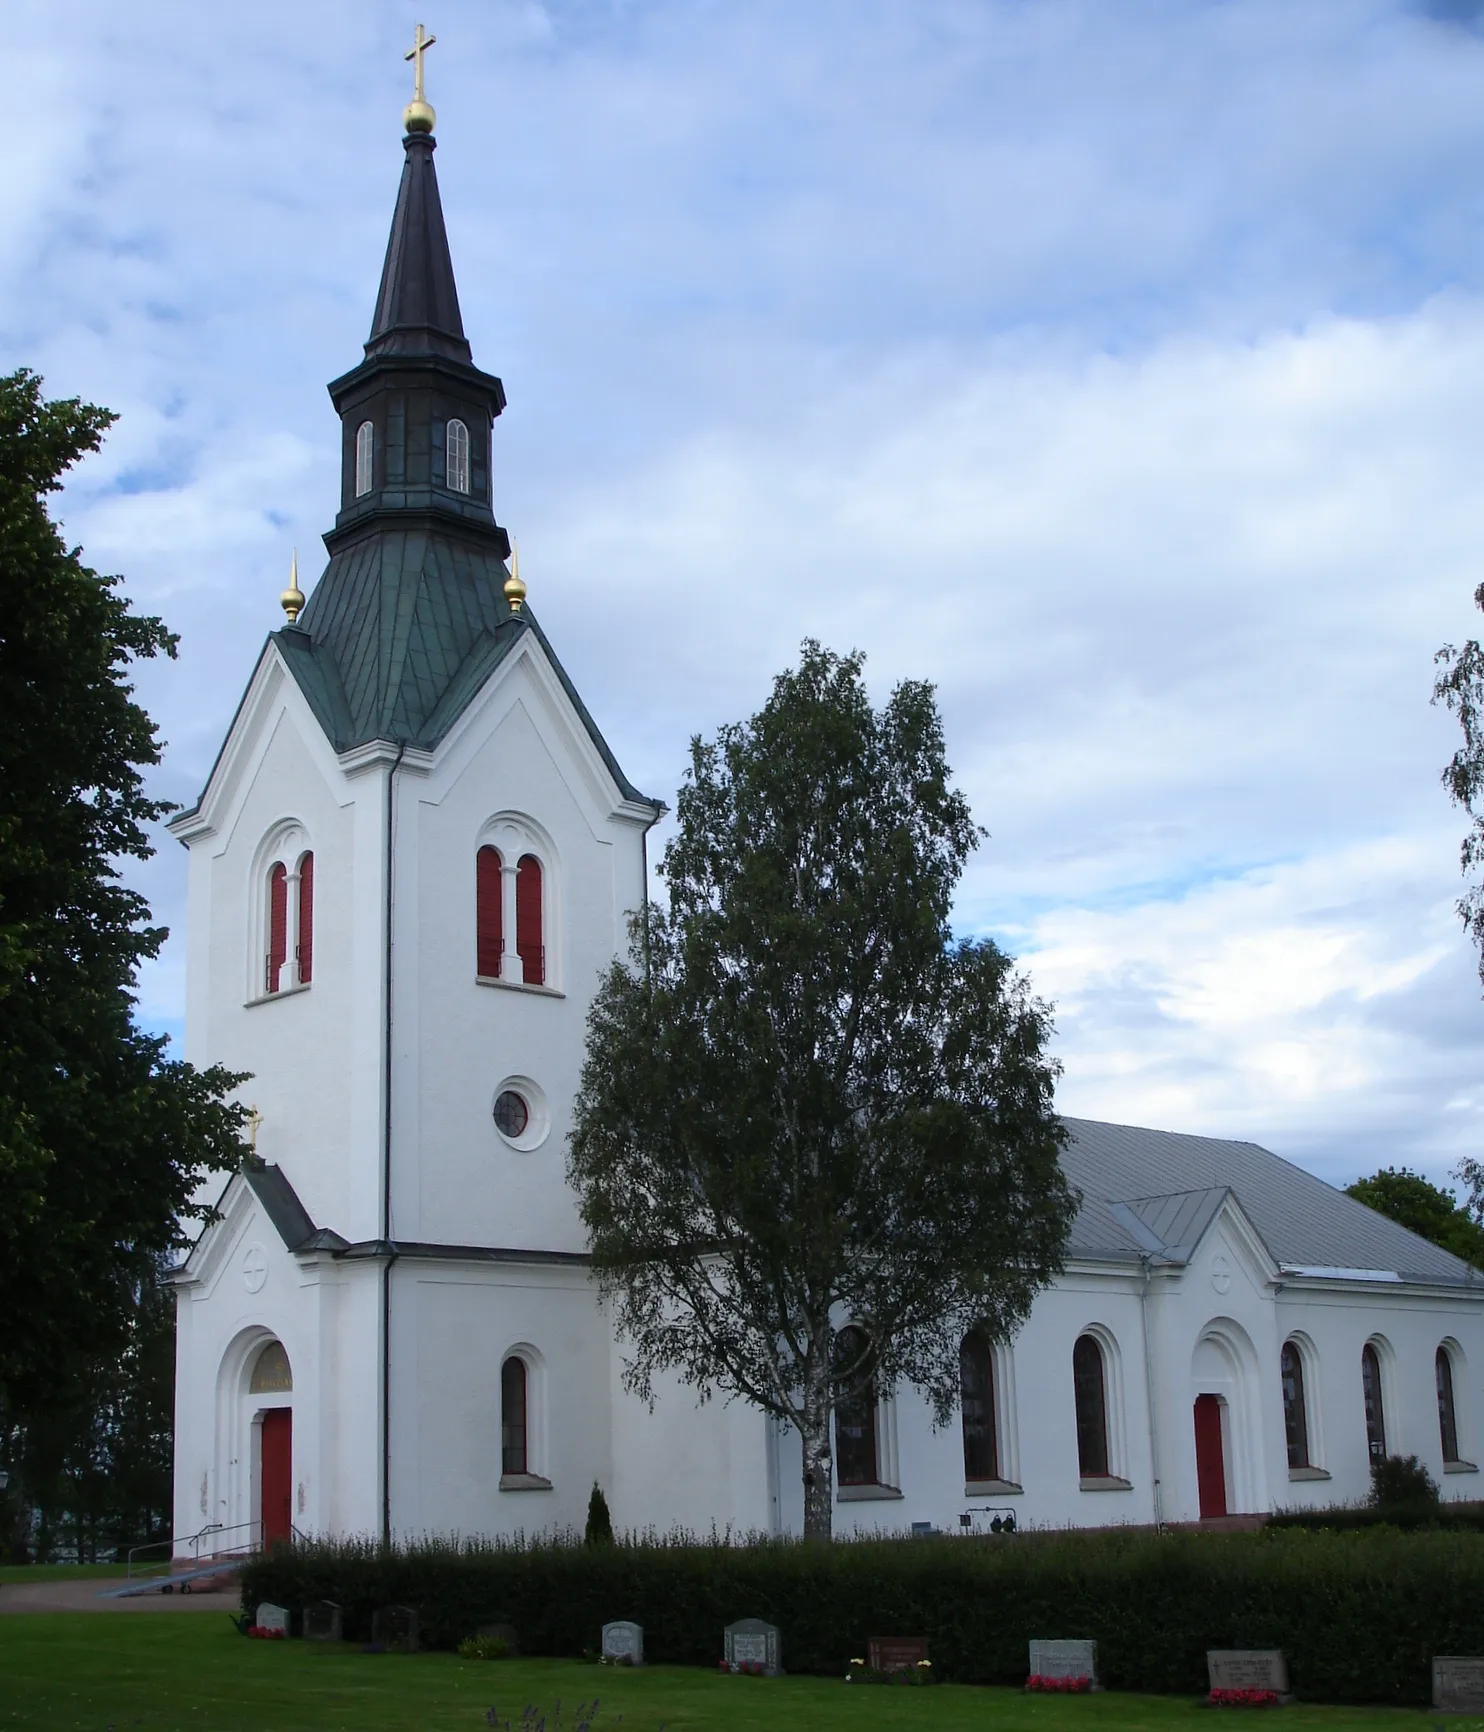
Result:
<svg viewBox="0 0 1484 1732"><path fill-rule="evenodd" d="M130 1351L139 1296L234 1166L239 1081L170 1058L133 1020L165 939L119 873L165 811L128 667L173 655L47 509L113 421L0 378L0 1427L35 1427Z"/></svg>

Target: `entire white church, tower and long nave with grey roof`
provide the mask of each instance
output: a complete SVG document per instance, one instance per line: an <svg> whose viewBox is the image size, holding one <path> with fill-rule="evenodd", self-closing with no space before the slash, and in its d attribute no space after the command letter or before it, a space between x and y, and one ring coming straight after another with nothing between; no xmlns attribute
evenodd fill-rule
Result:
<svg viewBox="0 0 1484 1732"><path fill-rule="evenodd" d="M421 78L403 121L371 338L329 386L329 565L171 823L187 1057L256 1108L175 1276L177 1548L573 1528L594 1483L620 1529L797 1533L798 1438L681 1386L651 1412L596 1301L566 1138L663 807L506 565L506 397ZM1254 1143L1068 1131L1065 1273L1013 1342L965 1342L949 1427L911 1389L836 1415L838 1533L1358 1500L1387 1453L1481 1495L1481 1276Z"/></svg>

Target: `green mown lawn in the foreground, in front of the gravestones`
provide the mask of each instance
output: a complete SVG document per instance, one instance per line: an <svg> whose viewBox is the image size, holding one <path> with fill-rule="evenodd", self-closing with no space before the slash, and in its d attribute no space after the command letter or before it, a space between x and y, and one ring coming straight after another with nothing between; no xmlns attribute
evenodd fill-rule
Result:
<svg viewBox="0 0 1484 1732"><path fill-rule="evenodd" d="M729 1678L655 1666L570 1661L461 1661L452 1654L362 1654L305 1642L248 1642L227 1618L170 1612L61 1612L0 1618L0 1732L480 1732L500 1709L518 1732L526 1704L545 1732L577 1732L577 1708L601 1699L594 1732L970 1732L1027 1727L1132 1732L1210 1729L1245 1715L1190 1697L1105 1692L1046 1701L1018 1690L937 1685L873 1689L833 1678ZM558 1703L561 1716L558 1718ZM622 1718L622 1723L618 1716ZM1425 1709L1283 1709L1300 1727L1422 1729ZM1266 1723L1266 1718L1264 1722ZM1449 1732L1484 1722L1453 1720Z"/></svg>

